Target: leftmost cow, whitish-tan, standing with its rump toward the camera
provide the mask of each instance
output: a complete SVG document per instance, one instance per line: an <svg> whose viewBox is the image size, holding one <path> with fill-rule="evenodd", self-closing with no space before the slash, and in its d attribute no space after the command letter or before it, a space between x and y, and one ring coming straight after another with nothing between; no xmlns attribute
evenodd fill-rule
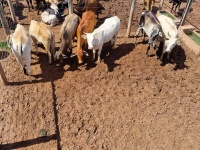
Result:
<svg viewBox="0 0 200 150"><path fill-rule="evenodd" d="M17 24L15 32L7 36L9 47L15 55L17 61L24 70L24 74L29 75L31 82L31 49L32 39L25 27ZM27 70L26 70L27 67Z"/></svg>

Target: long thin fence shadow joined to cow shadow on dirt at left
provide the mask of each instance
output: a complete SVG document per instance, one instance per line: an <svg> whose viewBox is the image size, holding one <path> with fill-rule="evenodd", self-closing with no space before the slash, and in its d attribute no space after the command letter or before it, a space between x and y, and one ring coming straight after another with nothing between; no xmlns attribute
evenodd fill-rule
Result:
<svg viewBox="0 0 200 150"><path fill-rule="evenodd" d="M40 82L51 82L51 88L52 88L52 99L53 99L53 110L54 110L54 123L56 126L56 131L55 134L50 135L50 136L45 136L45 137L39 137L31 140L26 140L26 141L21 141L21 142L15 142L15 143L10 143L10 144L5 144L2 145L3 148L9 147L11 148L21 148L21 147L27 147L30 145L35 145L35 144L40 144L44 142L48 142L50 140L57 140L57 149L61 150L61 144L60 144L60 130L59 130L59 125L58 125L58 112L56 109L57 106L57 97L55 94L55 80L61 79L64 75L65 70L60 67L55 66L55 62L52 63L52 65L49 65L49 58L47 55L47 52L44 50L44 47L42 44L38 44L38 47L42 47L43 50L39 50L38 54L38 61L35 63L32 63L31 66L35 64L40 64L40 68L42 73L38 75L32 75L35 77L35 79L30 83L29 81L24 81L24 82L13 82L9 83L11 86L15 85L21 85L21 84L33 84L33 83L40 83ZM58 49L58 47L56 47ZM32 51L32 55L36 55L35 51ZM1 149L1 146L0 146Z"/></svg>

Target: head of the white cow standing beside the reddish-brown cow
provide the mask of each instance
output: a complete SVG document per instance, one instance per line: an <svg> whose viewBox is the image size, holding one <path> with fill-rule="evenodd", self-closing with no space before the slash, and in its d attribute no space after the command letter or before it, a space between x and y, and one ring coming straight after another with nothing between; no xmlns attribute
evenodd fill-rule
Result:
<svg viewBox="0 0 200 150"><path fill-rule="evenodd" d="M97 41L99 39L99 33L84 33L81 36L83 39L87 39L88 49L96 50L98 49Z"/></svg>

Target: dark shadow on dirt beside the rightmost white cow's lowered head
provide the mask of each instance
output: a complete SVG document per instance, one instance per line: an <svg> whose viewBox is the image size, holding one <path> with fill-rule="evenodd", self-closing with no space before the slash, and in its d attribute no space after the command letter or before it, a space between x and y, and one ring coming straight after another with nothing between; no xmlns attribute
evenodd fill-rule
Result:
<svg viewBox="0 0 200 150"><path fill-rule="evenodd" d="M185 65L186 55L185 51L181 46L175 46L172 50L169 60L167 59L167 54L164 54L161 66L165 66L167 63L175 64L174 70L189 68Z"/></svg>

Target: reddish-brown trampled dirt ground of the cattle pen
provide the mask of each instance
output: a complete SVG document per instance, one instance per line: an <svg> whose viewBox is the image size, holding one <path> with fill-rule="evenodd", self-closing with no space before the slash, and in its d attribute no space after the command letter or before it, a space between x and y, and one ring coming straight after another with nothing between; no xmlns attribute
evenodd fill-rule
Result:
<svg viewBox="0 0 200 150"><path fill-rule="evenodd" d="M100 3L105 10L99 22L113 15L121 19L116 49L104 46L101 63L89 57L83 65L73 59L56 67L40 46L39 56L32 51L29 83L12 54L1 60L9 81L0 82L1 150L200 149L200 57L182 41L170 60L156 59L152 48L146 57L147 43L138 38L133 45L142 5L136 3L127 38L130 0ZM166 1L163 9L169 6ZM187 17L198 29L199 8L195 0ZM27 28L31 19L40 20L21 5L16 14ZM53 27L56 50L60 27ZM46 137L39 137L41 129Z"/></svg>

